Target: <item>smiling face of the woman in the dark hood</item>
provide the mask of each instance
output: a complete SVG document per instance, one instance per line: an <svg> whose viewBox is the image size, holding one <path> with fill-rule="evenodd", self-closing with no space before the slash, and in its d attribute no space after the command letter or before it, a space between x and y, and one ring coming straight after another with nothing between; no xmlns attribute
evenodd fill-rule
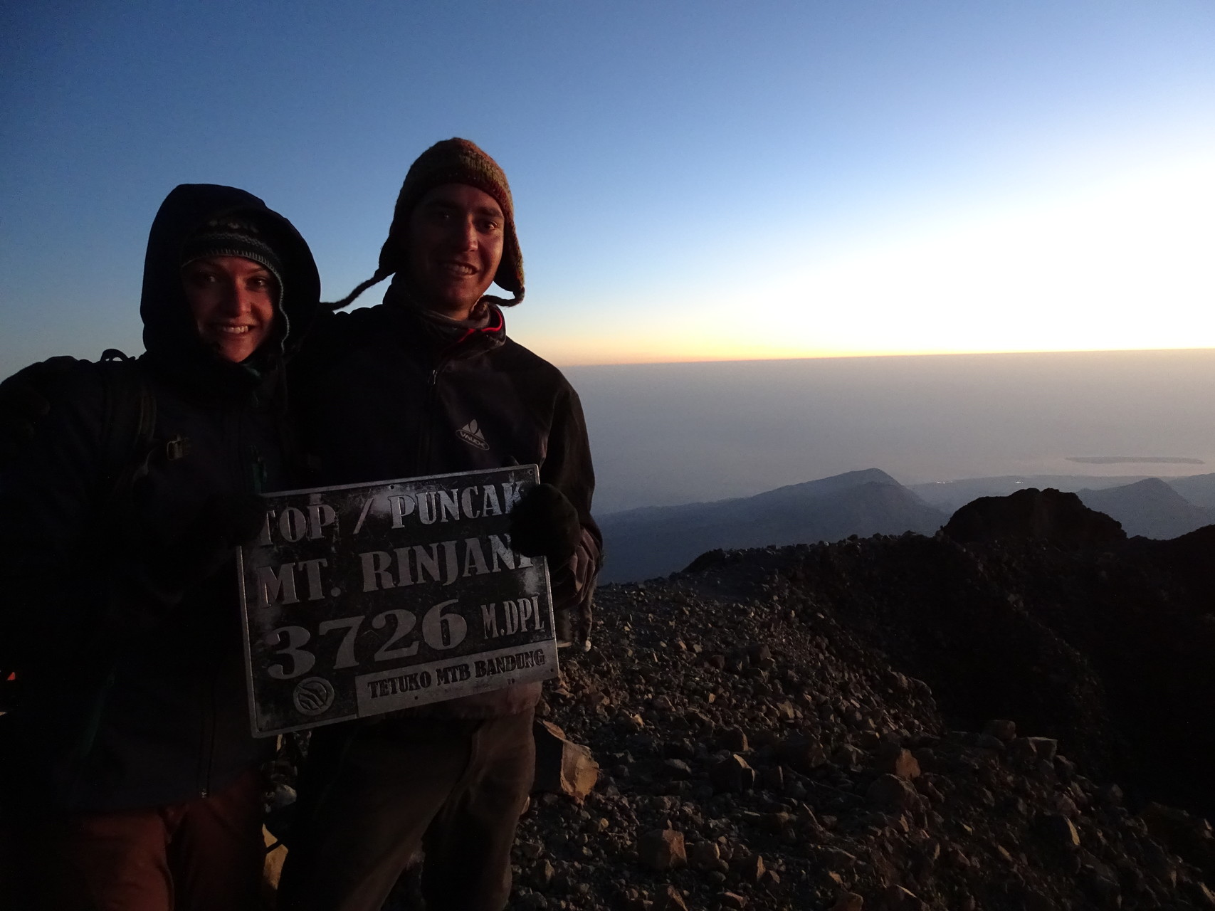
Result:
<svg viewBox="0 0 1215 911"><path fill-rule="evenodd" d="M204 256L182 266L181 281L198 336L220 357L239 363L270 335L278 283L261 264Z"/></svg>

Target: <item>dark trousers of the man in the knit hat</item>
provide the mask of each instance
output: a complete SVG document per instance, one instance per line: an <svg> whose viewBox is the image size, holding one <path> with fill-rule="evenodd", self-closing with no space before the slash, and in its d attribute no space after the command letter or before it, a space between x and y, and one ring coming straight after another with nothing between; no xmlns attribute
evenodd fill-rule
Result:
<svg viewBox="0 0 1215 911"><path fill-rule="evenodd" d="M419 847L428 911L502 911L535 765L531 711L317 731L279 911L379 911Z"/></svg>

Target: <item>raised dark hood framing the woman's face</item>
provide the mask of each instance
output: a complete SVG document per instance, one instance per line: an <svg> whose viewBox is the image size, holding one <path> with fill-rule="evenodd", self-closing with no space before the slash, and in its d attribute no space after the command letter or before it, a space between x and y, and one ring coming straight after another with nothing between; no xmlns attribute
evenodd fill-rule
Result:
<svg viewBox="0 0 1215 911"><path fill-rule="evenodd" d="M282 261L283 294L275 330L243 363L226 361L199 339L181 281L186 242L208 221L228 216L256 223ZM320 299L321 277L307 243L252 193L215 183L182 183L160 204L148 234L140 316L148 357L177 381L220 395L254 389L299 347Z"/></svg>

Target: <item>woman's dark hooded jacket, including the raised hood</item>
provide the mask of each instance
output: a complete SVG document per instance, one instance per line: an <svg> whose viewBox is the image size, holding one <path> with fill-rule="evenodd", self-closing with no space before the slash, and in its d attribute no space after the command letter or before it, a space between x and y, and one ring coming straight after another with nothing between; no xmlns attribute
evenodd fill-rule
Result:
<svg viewBox="0 0 1215 911"><path fill-rule="evenodd" d="M183 241L226 215L258 223L283 259L275 334L244 364L198 339L180 277ZM249 734L231 543L200 527L216 500L290 486L282 362L318 296L311 253L286 219L239 189L177 187L152 225L140 306L137 370L157 411L146 476L115 499L104 426L115 387L109 364L87 362L0 473L0 629L24 655L4 719L16 723L19 764L7 783L38 802L176 803L265 754Z"/></svg>

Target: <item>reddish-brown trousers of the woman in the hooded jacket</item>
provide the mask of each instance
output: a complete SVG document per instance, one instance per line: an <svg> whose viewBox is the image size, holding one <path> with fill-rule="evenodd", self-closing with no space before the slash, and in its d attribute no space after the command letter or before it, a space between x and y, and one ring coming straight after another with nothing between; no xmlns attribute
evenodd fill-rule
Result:
<svg viewBox="0 0 1215 911"><path fill-rule="evenodd" d="M261 776L209 797L134 810L5 819L0 906L43 911L247 911L266 847Z"/></svg>

